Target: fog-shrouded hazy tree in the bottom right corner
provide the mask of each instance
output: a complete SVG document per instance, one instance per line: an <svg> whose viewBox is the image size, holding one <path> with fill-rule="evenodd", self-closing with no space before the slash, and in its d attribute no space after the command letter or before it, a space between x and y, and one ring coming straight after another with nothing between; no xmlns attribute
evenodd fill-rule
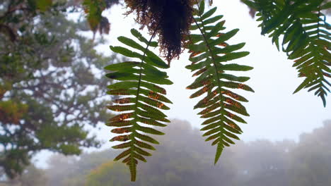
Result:
<svg viewBox="0 0 331 186"><path fill-rule="evenodd" d="M323 127L300 136L291 154L291 185L330 185L330 132L331 120L326 120Z"/></svg>

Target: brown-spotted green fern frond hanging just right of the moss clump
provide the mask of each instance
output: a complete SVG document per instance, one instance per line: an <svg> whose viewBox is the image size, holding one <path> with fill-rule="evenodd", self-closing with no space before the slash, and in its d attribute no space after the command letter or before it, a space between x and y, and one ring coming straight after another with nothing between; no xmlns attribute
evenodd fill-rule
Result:
<svg viewBox="0 0 331 186"><path fill-rule="evenodd" d="M194 109L203 109L198 114L201 118L207 118L202 125L203 136L208 136L206 141L214 140L216 145L216 156L214 163L217 163L224 147L234 144L232 139L239 140L237 135L242 133L238 123L246 123L241 116L249 116L245 107L240 102L248 100L232 92L230 89L244 89L254 92L248 85L243 84L249 77L238 77L231 75L229 71L247 71L250 66L242 66L236 63L229 63L237 58L249 54L248 51L238 51L245 43L228 44L238 29L223 32L225 21L223 16L213 16L216 7L204 13L204 1L194 10L194 23L192 32L199 31L199 34L191 34L187 38L187 49L189 49L191 65L186 68L194 71L193 76L197 79L187 89L198 89L190 98L206 95L199 101ZM207 94L205 94L207 93Z"/></svg>

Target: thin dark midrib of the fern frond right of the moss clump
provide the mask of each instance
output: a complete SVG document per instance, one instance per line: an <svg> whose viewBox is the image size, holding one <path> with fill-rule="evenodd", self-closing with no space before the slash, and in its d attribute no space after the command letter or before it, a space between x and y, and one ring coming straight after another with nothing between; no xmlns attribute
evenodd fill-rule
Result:
<svg viewBox="0 0 331 186"><path fill-rule="evenodd" d="M196 0L197 1L197 0ZM197 6L198 6L198 10L200 9L199 8L199 4L197 4ZM200 12L200 10L199 10L199 17L200 18L202 18L202 13ZM201 28L199 27L199 25L197 24L197 20L195 20L194 18L193 18L193 20L194 20L194 23L197 25L197 27L198 27L198 29L200 30L200 32L202 33L202 37L204 37L204 42L206 43L206 45L207 45L207 48L208 48L208 50L209 50L209 53L211 54L211 61L213 62L213 64L214 64L214 69L215 69L215 73L216 73L216 77L217 77L217 83L218 83L218 85L219 86L217 86L218 87L218 89L219 89L219 99L220 99L220 106L221 106L221 108L220 108L220 110L224 110L223 109L223 104L221 104L222 103L222 101L223 101L223 97L222 97L222 91L221 91L221 81L219 80L219 70L217 69L217 66L216 66L216 62L215 62L215 58L214 58L214 54L213 54L213 52L211 51L211 47L210 47L210 45L209 45L209 42L207 41L207 38L206 38L206 36L204 35L204 32L203 32L203 30L204 30L204 22L203 22L203 20L201 21L201 23L202 23L202 29L203 30L201 30ZM223 116L223 113L221 113L221 116ZM220 125L220 127L221 127L221 125ZM223 136L223 128L221 127L221 136ZM221 143L221 142L220 142Z"/></svg>

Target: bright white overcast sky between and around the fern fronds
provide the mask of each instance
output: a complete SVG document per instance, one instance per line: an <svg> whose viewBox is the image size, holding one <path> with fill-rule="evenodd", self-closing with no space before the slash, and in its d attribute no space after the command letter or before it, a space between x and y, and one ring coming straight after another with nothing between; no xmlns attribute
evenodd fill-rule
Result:
<svg viewBox="0 0 331 186"><path fill-rule="evenodd" d="M243 50L250 51L249 56L233 62L254 67L244 74L251 77L247 83L255 93L242 93L249 100L245 106L250 117L245 118L248 124L240 125L244 132L240 136L241 140L298 140L298 135L302 132L310 132L322 126L323 120L331 119L330 96L327 98L327 107L324 108L320 98L306 92L306 89L292 94L302 81L297 77L296 69L291 67L293 61L287 60L284 53L277 51L270 38L260 35L260 27L249 16L245 4L241 4L239 0L219 0L214 1L213 6L218 7L217 14L224 16L227 31L240 29L231 43L246 42ZM116 38L121 35L131 37L129 30L132 27L139 28L134 24L133 16L125 17L122 15L124 12L122 6L114 6L105 13L112 24L110 35L105 36L111 45L119 44ZM110 55L109 44L99 46L98 51ZM194 80L192 73L185 68L188 64L187 54L182 54L179 60L171 63L168 75L174 84L166 89L167 97L173 104L168 105L170 111L166 114L169 118L188 120L194 127L200 128L202 120L196 115L198 111L192 109L199 98L189 99L192 91L185 89ZM100 128L98 136L106 142L102 149L108 149L113 145L108 142L111 128L105 125L100 125ZM46 157L43 153L36 159L40 159L41 163Z"/></svg>

